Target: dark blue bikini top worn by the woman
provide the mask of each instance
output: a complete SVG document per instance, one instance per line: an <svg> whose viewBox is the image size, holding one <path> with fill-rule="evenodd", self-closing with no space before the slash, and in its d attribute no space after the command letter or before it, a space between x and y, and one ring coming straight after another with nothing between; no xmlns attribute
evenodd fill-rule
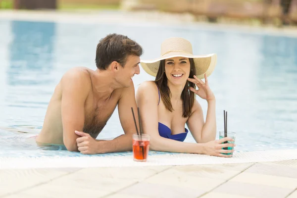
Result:
<svg viewBox="0 0 297 198"><path fill-rule="evenodd" d="M159 102L158 102L158 105L159 105L159 103L160 103L160 91L159 91L159 88L158 88L158 93L159 93ZM185 128L185 133L179 133L179 134L171 135L171 129L169 127L167 127L166 125L160 123L160 122L158 122L158 130L159 130L159 134L160 134L161 137L168 138L168 139L171 139L171 140L177 140L177 141L180 141L180 142L184 142L184 140L186 139L187 134L188 134L188 129Z"/></svg>

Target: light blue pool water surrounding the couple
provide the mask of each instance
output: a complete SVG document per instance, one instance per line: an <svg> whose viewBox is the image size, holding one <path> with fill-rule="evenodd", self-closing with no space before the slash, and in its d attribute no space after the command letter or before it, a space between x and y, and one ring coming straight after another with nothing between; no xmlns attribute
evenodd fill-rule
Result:
<svg viewBox="0 0 297 198"><path fill-rule="evenodd" d="M63 73L75 66L96 69L96 45L109 33L135 39L145 49L144 59L158 57L160 43L168 37L188 39L196 54L217 53L217 66L209 77L217 99L217 131L223 129L226 109L228 128L237 133L236 150L297 148L297 38L203 26L0 20L0 127L33 128L37 134ZM141 69L134 77L135 88L144 80L153 77ZM198 101L205 118L206 102ZM116 110L98 138L121 133ZM27 144L31 136L0 130L1 153L63 150ZM194 142L191 134L186 141Z"/></svg>

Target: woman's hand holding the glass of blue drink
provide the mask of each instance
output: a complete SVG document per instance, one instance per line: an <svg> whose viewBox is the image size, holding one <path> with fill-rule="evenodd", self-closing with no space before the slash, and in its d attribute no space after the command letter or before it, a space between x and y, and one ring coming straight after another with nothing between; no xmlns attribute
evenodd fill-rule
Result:
<svg viewBox="0 0 297 198"><path fill-rule="evenodd" d="M203 154L213 155L218 157L231 157L232 154L222 154L222 153L232 153L234 150L225 150L225 147L234 147L235 145L232 143L222 144L225 141L234 142L232 138L226 137L220 140L210 141L208 143L204 143L203 145Z"/></svg>

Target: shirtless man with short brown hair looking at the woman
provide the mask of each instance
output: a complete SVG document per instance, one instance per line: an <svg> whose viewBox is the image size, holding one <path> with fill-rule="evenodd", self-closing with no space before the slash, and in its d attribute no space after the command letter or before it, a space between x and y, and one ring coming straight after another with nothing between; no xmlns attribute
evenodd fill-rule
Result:
<svg viewBox="0 0 297 198"><path fill-rule="evenodd" d="M132 77L140 73L142 47L126 36L101 39L96 51L97 69L76 67L66 72L49 101L38 145L65 145L83 154L132 150L137 114ZM124 135L96 140L118 105Z"/></svg>

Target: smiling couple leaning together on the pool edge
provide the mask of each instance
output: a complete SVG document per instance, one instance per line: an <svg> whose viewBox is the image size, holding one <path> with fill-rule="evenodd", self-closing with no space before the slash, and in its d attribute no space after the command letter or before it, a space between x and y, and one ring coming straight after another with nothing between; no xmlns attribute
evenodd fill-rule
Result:
<svg viewBox="0 0 297 198"><path fill-rule="evenodd" d="M232 139L215 140L215 97L207 81L216 54L193 55L191 43L183 38L166 39L160 58L141 61L142 53L142 47L127 36L111 34L101 39L97 69L75 67L56 86L37 144L65 145L83 154L130 151L136 133L131 107L137 117L138 106L150 149L229 157L222 153L233 150L222 148L234 145L222 143ZM156 78L143 82L135 99L132 77L140 73L139 64ZM208 103L205 121L196 95ZM96 140L116 106L124 134ZM186 123L197 143L183 142Z"/></svg>

